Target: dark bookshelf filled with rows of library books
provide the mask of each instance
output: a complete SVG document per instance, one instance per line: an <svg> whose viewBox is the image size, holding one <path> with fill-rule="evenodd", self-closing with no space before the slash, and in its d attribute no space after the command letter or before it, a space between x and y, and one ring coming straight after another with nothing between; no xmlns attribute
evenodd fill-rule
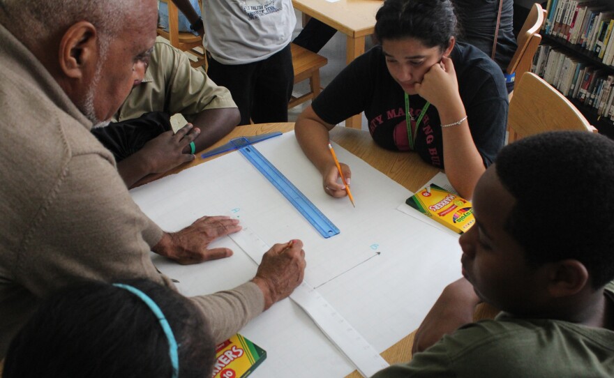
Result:
<svg viewBox="0 0 614 378"><path fill-rule="evenodd" d="M562 1L563 3L566 0L558 0L558 1ZM560 2L558 2L558 4L560 4ZM578 7L578 6L583 6L583 5L592 5L592 4L588 4L588 3L584 3L579 0L576 1L574 3L574 1L569 1L570 3L572 3L572 5L570 6L571 8L574 7ZM553 3L553 1L548 1L548 3L543 3L544 8L546 8L546 6L551 6L551 3ZM605 12L612 12L613 15L612 17L607 17L608 20L614 20L614 0L601 0L599 1L599 3L602 5L601 7L601 11ZM552 10L548 9L548 13L550 13ZM573 10L570 10L570 13L573 14ZM563 18L563 17L562 17ZM569 23L571 24L571 18L569 20ZM582 24L582 22L578 22L578 24ZM579 29L579 28L578 28ZM601 59L599 58L598 54L595 53L594 51L591 51L585 47L581 47L581 45L578 44L574 44L574 43L570 43L567 38L569 38L569 36L567 38L561 38L559 36L554 36L551 33L546 33L546 31L544 29L541 30L541 36L542 36L542 41L541 41L541 45L548 45L551 47L551 51L555 50L557 53L562 53L564 54L564 56L569 57L572 61L578 61L578 62L582 62L585 63L586 66L590 66L592 68L594 68L594 70L599 70L599 73L603 80L604 80L604 86L606 85L606 78L608 77L608 75L614 75L614 66L608 65L604 63L604 58L605 56L603 56ZM611 34L611 36L614 37L614 33ZM614 40L613 40L614 41ZM611 42L614 43L614 42ZM603 47L604 50L606 49L606 46ZM541 52L541 49L538 50L535 59L534 59L534 63L537 63L538 58L539 58L539 54ZM545 59L545 58L544 58ZM567 59L567 58L562 58L563 59ZM561 61L562 61L561 60ZM545 64L546 62L544 61ZM534 64L535 66L535 64ZM553 63L551 63L550 61L548 61L548 66L553 66ZM557 66L559 67L559 72L557 73L550 73L550 80L553 80L553 77L563 77L565 75L564 73L564 69L563 66ZM539 70L539 67L534 67L534 70L536 70L537 68L537 74L546 78L548 76L544 75L544 69L542 68L542 70ZM580 71L580 73L582 73ZM570 74L571 75L571 74ZM573 75L571 77L569 77L569 80L574 80ZM548 81L548 80L546 80ZM580 81L576 81L576 85L581 85L581 80ZM557 82L555 81L555 84ZM597 86L599 86L598 84L599 82L597 82ZM550 84L553 84L553 82L550 82ZM585 102L581 102L581 100L579 100L579 96L578 97L574 97L574 93L573 91L569 91L569 86L567 87L567 91L565 89L565 86L562 85L562 79L561 82L558 82L557 85L554 85L557 89L559 89L560 91L564 91L566 93L564 93L567 98L571 101L571 103L573 103L578 110L580 110L580 112L582 112L582 114L584 114L584 116L586 117L586 119L597 128L597 130L599 130L599 133L604 134L608 137L611 137L612 139L614 139L614 121L611 118L608 118L608 116L599 116L598 114L598 109L596 107L590 106L590 105L586 105L587 101ZM572 86L573 88L573 86ZM597 88L595 89L596 93L597 93L597 98L599 98L599 91L597 90ZM614 87L611 86L609 93L613 93L614 92ZM607 92L606 92L607 93ZM604 94L606 94L604 93ZM577 94L577 93L576 93ZM590 96L590 93L588 93L588 95ZM614 96L614 95L613 95ZM607 107L607 99L604 100L606 102L606 105L604 107ZM603 111L602 111L603 113ZM614 117L612 117L614 118Z"/></svg>

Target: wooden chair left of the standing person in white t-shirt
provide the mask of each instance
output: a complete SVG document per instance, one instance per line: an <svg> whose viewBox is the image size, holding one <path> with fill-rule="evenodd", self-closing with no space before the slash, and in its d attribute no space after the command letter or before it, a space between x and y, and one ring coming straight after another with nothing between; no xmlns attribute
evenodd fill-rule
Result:
<svg viewBox="0 0 614 378"><path fill-rule="evenodd" d="M168 31L158 26L158 36L166 38L170 44L177 47L181 51L188 52L196 56L196 61L190 59L190 64L194 68L205 65L207 67L207 58L202 47L202 37L195 36L193 33L179 31L179 9L170 0L160 0L168 6ZM200 1L199 1L200 3Z"/></svg>

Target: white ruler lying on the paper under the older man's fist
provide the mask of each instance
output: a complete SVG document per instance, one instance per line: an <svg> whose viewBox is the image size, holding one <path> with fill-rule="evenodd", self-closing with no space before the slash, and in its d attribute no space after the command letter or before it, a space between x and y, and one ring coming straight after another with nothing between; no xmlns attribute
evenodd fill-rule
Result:
<svg viewBox="0 0 614 378"><path fill-rule="evenodd" d="M248 227L237 234L230 234L230 238L256 264L260 264L262 255L269 250L269 245ZM389 366L375 348L305 280L294 289L290 298L301 306L337 349L352 361L363 377L370 377Z"/></svg>

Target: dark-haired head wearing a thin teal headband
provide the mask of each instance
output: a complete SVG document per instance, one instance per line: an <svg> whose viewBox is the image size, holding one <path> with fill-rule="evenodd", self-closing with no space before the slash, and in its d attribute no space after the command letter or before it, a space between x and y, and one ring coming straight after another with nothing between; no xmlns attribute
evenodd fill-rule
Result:
<svg viewBox="0 0 614 378"><path fill-rule="evenodd" d="M211 377L215 342L193 303L149 280L83 282L47 298L3 377Z"/></svg>

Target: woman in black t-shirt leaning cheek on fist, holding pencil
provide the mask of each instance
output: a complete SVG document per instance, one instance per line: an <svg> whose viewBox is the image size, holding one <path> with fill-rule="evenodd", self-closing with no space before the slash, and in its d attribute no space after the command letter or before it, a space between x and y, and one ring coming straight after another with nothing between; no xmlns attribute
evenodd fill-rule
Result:
<svg viewBox="0 0 614 378"><path fill-rule="evenodd" d="M301 148L322 173L324 190L345 196L327 149L329 130L364 112L379 146L417 152L470 198L504 144L508 100L500 68L457 42L449 0L386 0L375 18L381 45L352 61L299 116Z"/></svg>

